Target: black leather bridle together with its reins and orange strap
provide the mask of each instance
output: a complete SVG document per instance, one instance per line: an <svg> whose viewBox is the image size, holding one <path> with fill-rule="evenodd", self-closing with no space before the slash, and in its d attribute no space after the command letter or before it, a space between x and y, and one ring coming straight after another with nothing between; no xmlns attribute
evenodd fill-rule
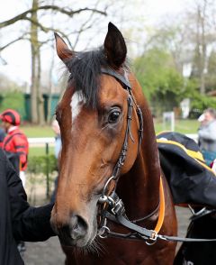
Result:
<svg viewBox="0 0 216 265"><path fill-rule="evenodd" d="M130 133L130 126L131 126L131 114L132 114L132 107L133 103L136 105L136 112L139 117L139 148L140 143L143 137L143 117L139 105L136 104L136 101L131 93L131 86L130 82L125 75L124 77L121 76L119 73L112 69L102 69L102 73L112 76L116 78L122 85L124 89L129 92L128 96L128 114L127 114L127 128L126 133L124 136L124 142L122 144L121 153L119 159L117 160L114 169L112 170L112 177L108 178L107 182L103 187L102 195L100 196L98 203L101 204L101 213L100 213L100 224L98 229L98 235L101 238L115 237L121 239L134 239L134 240L144 240L148 245L152 245L157 242L157 239L164 240L164 241L171 241L171 242L216 242L216 239L193 239L193 238L181 238L177 236L168 236L159 234L159 231L163 225L164 217L165 217L165 196L164 196L164 188L162 178L160 177L160 184L159 184L159 203L157 208L149 215L140 218L139 220L130 221L125 214L125 209L122 200L117 196L115 193L117 182L120 176L121 168L124 164L126 159L127 151L128 151L128 140L129 136L130 139L133 141L133 138ZM138 148L138 152L139 152ZM112 190L112 193L109 195L107 194L107 187L109 186L111 181L115 181L115 186ZM145 227L141 227L136 223L139 223L143 220L148 219L152 215L155 215L158 211L158 218L157 224L154 230L149 230ZM129 228L130 233L113 233L110 231L109 227L107 226L107 219L115 222L117 224L121 224L122 226Z"/></svg>

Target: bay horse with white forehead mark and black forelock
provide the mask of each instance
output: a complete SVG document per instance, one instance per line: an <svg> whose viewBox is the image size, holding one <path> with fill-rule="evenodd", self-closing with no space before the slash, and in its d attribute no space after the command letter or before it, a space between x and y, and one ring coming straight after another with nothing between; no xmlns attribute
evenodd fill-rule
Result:
<svg viewBox="0 0 216 265"><path fill-rule="evenodd" d="M175 207L121 32L109 23L103 47L84 52L55 36L69 78L56 110L62 151L51 224L66 264L172 264L175 242L156 235L176 234Z"/></svg>

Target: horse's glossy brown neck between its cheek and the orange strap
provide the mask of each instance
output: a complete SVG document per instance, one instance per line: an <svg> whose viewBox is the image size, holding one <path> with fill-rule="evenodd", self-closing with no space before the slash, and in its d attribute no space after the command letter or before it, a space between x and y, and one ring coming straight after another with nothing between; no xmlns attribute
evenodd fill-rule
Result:
<svg viewBox="0 0 216 265"><path fill-rule="evenodd" d="M139 155L118 184L127 214L135 219L154 211L159 201L160 166L154 125L148 108L142 111L144 132Z"/></svg>

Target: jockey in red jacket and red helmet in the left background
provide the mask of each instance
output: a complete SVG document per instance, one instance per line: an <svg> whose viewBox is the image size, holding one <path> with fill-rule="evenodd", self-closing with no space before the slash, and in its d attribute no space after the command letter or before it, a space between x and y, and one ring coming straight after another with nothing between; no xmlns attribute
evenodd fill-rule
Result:
<svg viewBox="0 0 216 265"><path fill-rule="evenodd" d="M24 171L27 168L29 142L25 134L20 130L19 125L21 123L20 114L13 109L7 109L0 114L2 125L7 135L4 137L2 148L7 154L16 154L19 158L19 175L25 186L25 174Z"/></svg>

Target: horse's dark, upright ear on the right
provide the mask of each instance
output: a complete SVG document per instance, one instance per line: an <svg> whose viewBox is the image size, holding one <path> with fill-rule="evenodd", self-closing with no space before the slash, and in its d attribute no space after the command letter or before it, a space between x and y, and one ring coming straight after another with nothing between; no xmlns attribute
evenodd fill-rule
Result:
<svg viewBox="0 0 216 265"><path fill-rule="evenodd" d="M103 43L108 62L114 68L120 68L127 55L127 47L121 32L112 23L108 24L108 32Z"/></svg>

